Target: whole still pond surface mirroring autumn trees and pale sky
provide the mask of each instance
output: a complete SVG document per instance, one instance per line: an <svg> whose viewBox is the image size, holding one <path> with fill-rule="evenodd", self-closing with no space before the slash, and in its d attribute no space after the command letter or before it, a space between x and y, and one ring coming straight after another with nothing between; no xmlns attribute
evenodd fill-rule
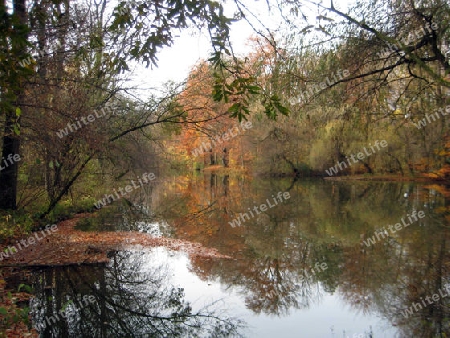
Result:
<svg viewBox="0 0 450 338"><path fill-rule="evenodd" d="M211 174L158 182L137 191L137 207L88 227L200 242L232 259L135 248L106 266L34 271L35 325L46 323L43 337L447 337L444 188ZM290 198L257 214L278 192Z"/></svg>

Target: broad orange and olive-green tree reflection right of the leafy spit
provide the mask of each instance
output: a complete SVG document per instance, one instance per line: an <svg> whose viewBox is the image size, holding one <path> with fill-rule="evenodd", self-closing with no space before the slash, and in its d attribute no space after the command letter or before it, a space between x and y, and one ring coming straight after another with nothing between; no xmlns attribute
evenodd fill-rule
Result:
<svg viewBox="0 0 450 338"><path fill-rule="evenodd" d="M450 296L408 318L402 315L450 283L450 193L437 194L442 186L293 185L289 180L246 182L205 174L181 187L171 181L156 189L166 197L152 209L161 212L177 238L220 248L234 258L220 264L195 259L192 271L235 290L255 314L278 316L282 323L283 317L295 316L297 309L306 314L331 294L356 315L383 318L401 337L450 334ZM276 191L289 191L292 197L240 227L230 226L241 212L265 203ZM413 210L428 216L376 245L363 244ZM306 278L317 262L326 263L327 270ZM333 310L339 315L338 306ZM371 335L371 329L365 331Z"/></svg>

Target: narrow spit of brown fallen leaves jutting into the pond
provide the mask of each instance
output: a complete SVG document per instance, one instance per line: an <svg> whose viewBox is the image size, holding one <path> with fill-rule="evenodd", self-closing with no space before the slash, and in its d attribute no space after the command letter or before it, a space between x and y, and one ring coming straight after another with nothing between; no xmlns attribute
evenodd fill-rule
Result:
<svg viewBox="0 0 450 338"><path fill-rule="evenodd" d="M57 231L49 234L45 241L38 241L22 250L2 256L0 267L47 267L73 264L104 264L108 253L117 250L139 250L164 246L171 250L184 251L191 257L231 258L221 255L216 249L206 248L173 238L160 238L136 231L84 232L75 229L80 219L95 217L93 214L78 214L59 222ZM7 247L0 250L5 252Z"/></svg>

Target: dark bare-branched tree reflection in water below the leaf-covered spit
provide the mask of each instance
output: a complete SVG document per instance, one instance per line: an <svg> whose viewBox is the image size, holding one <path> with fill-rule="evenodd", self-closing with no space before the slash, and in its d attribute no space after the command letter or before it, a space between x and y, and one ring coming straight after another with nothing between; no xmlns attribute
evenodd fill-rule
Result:
<svg viewBox="0 0 450 338"><path fill-rule="evenodd" d="M107 266L70 266L34 274L36 327L41 337L239 337L244 322L210 304L194 311L184 290L171 283L168 264L152 253L120 251ZM86 295L95 301L86 305ZM72 300L72 302L68 302ZM60 311L65 311L66 319Z"/></svg>

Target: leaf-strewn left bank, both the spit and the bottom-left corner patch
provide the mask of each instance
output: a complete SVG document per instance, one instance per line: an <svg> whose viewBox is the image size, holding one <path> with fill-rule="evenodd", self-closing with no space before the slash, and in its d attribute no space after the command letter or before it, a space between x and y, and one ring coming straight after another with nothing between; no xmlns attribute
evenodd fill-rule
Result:
<svg viewBox="0 0 450 338"><path fill-rule="evenodd" d="M216 249L184 240L152 237L133 231L84 232L75 228L80 220L96 216L95 213L77 214L54 224L53 231L47 231L44 238L39 237L41 240L34 240L38 232L31 232L0 246L0 337L39 336L35 329L29 327L31 319L27 304L32 297L31 289L5 288L6 280L13 278L14 271L22 271L21 268L107 264L108 254L112 251L145 250L158 246L186 252L191 258L231 258ZM20 248L17 243L22 243Z"/></svg>

